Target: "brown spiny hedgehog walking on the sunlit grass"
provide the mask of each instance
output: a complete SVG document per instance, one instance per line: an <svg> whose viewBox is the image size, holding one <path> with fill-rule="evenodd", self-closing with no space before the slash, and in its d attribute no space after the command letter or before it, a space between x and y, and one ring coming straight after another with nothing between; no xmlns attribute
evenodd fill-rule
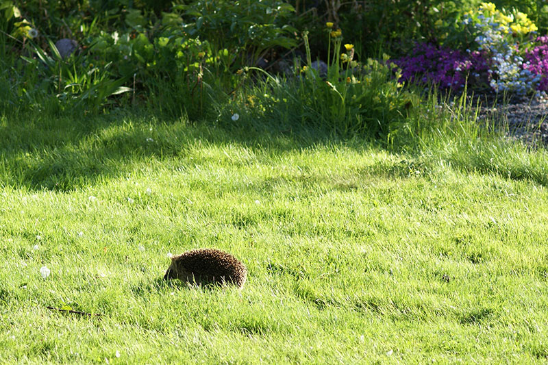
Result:
<svg viewBox="0 0 548 365"><path fill-rule="evenodd" d="M243 288L247 268L236 257L218 249L196 249L171 257L164 280L195 284L235 284Z"/></svg>

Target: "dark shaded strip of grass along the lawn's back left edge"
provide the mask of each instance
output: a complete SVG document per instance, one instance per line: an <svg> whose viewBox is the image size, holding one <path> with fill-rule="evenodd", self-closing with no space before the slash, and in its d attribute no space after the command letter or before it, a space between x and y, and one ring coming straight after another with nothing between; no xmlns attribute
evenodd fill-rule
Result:
<svg viewBox="0 0 548 365"><path fill-rule="evenodd" d="M138 162L184 157L197 141L282 152L333 140L327 132L311 129L189 125L180 120L162 122L151 115L112 112L89 118L3 117L0 141L1 185L71 191L123 176Z"/></svg>

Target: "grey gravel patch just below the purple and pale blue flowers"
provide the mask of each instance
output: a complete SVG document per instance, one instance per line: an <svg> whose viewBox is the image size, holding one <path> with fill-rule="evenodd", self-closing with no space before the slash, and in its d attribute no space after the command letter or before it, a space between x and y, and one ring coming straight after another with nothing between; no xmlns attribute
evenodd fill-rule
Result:
<svg viewBox="0 0 548 365"><path fill-rule="evenodd" d="M514 97L504 103L484 95L479 101L479 122L503 127L508 138L521 140L529 147L548 146L548 97Z"/></svg>

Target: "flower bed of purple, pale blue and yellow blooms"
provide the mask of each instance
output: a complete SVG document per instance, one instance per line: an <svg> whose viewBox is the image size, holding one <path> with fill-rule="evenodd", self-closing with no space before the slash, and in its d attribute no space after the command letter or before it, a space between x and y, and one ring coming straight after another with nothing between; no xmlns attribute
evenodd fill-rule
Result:
<svg viewBox="0 0 548 365"><path fill-rule="evenodd" d="M548 90L548 37L537 37L536 25L527 14L497 10L493 3L481 3L468 12L452 37L466 51L432 43L416 43L410 55L394 60L401 69L400 81L436 84L461 89L488 86L494 92L516 95L542 94Z"/></svg>

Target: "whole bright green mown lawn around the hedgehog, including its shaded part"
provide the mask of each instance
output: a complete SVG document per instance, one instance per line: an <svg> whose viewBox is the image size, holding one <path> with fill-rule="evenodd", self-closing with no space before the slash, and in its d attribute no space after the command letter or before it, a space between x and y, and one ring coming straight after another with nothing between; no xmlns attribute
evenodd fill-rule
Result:
<svg viewBox="0 0 548 365"><path fill-rule="evenodd" d="M548 359L542 179L123 114L3 118L0 141L1 363ZM162 280L199 247L243 290Z"/></svg>

